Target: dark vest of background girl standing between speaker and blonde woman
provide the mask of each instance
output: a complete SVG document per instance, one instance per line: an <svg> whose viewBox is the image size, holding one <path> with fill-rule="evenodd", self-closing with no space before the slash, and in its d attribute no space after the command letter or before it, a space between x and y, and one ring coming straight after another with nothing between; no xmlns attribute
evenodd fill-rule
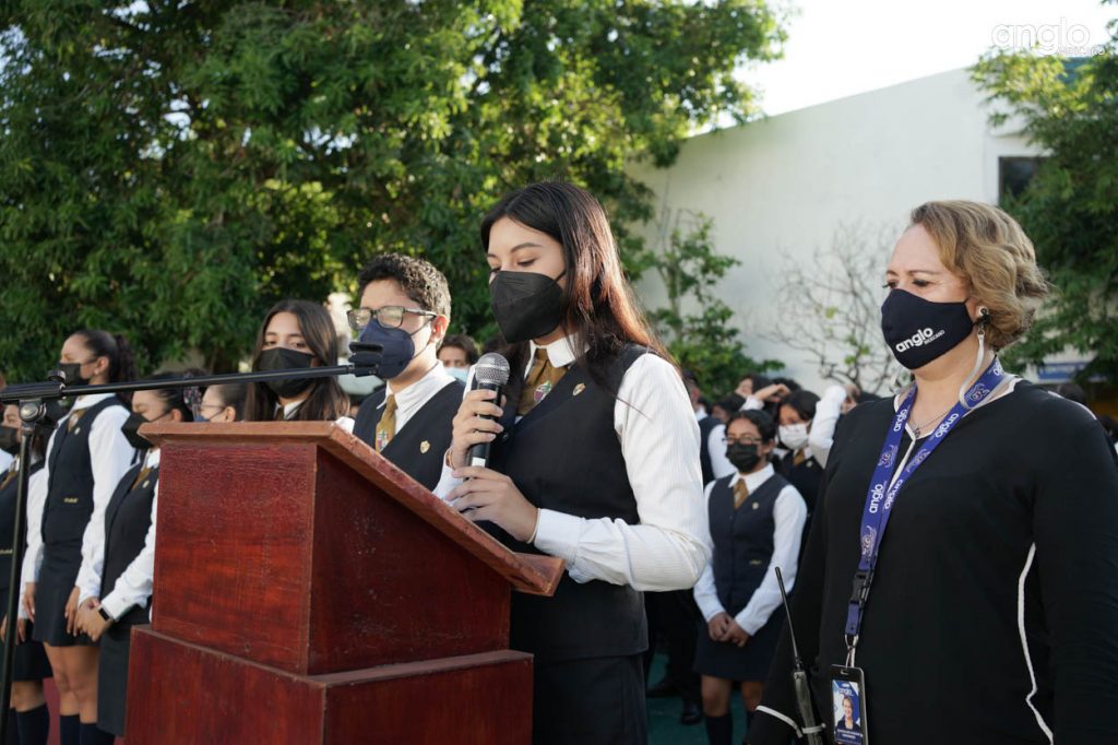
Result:
<svg viewBox="0 0 1118 745"><path fill-rule="evenodd" d="M714 544L714 587L719 602L731 616L749 603L768 572L776 531L773 509L780 491L788 485L784 477L774 473L735 509L732 479L731 474L716 481L707 502Z"/></svg>

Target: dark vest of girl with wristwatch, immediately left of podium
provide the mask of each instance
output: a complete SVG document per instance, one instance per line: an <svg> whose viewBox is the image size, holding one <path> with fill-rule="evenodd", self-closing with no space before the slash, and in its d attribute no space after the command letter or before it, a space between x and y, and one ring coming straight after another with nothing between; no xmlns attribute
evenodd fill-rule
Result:
<svg viewBox="0 0 1118 745"><path fill-rule="evenodd" d="M116 581L129 565L140 556L148 529L154 517L151 513L155 499L155 484L159 483L159 466L152 469L136 483L136 477L143 470L143 464L133 465L124 474L113 492L113 498L105 508L105 563L101 572L101 596L113 591ZM135 487L133 488L133 483ZM134 607L124 614L117 626L148 623L148 609L151 598L141 607Z"/></svg>

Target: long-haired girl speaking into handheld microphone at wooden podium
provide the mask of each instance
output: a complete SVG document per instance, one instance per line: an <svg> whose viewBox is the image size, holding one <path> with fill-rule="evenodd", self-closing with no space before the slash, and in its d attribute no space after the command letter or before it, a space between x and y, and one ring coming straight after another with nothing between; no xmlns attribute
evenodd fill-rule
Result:
<svg viewBox="0 0 1118 745"><path fill-rule="evenodd" d="M513 372L503 407L466 394L436 491L513 550L567 563L553 597L512 597L511 647L536 656L533 742L643 743L642 592L689 588L710 558L698 424L593 196L529 186L481 237ZM467 466L482 442L490 468Z"/></svg>

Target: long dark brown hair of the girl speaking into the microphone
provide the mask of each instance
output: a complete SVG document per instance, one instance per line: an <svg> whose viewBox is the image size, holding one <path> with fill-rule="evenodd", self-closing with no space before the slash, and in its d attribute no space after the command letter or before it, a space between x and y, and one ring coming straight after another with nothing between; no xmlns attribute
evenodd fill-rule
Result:
<svg viewBox="0 0 1118 745"><path fill-rule="evenodd" d="M586 365L595 383L612 388L607 369L629 343L671 359L633 296L606 210L593 195L560 181L532 183L506 195L482 220L486 251L493 224L504 217L562 245L567 286L560 326L586 345L577 364ZM527 364L528 348L523 342L504 350L513 369Z"/></svg>

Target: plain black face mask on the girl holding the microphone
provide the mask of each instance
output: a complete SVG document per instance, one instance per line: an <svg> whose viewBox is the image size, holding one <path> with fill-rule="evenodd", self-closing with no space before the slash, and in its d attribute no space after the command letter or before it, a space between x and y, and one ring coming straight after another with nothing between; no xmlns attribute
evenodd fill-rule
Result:
<svg viewBox="0 0 1118 745"><path fill-rule="evenodd" d="M498 272L490 282L493 318L504 340L519 343L546 337L559 326L562 287L559 280L536 272Z"/></svg>

